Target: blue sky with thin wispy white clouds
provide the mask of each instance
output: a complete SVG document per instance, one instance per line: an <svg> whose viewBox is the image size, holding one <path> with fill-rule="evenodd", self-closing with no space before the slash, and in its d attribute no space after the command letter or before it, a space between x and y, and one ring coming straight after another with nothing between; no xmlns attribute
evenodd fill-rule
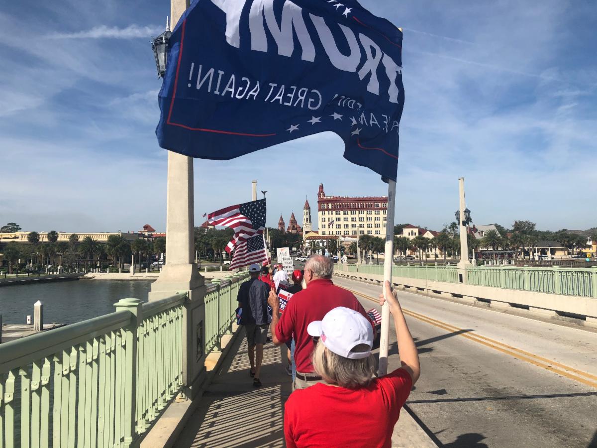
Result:
<svg viewBox="0 0 597 448"><path fill-rule="evenodd" d="M205 0L201 0L205 1ZM458 177L477 223L597 226L592 1L363 0L404 28L396 222L441 229ZM0 11L0 223L27 231L165 229L149 46L168 1L7 2ZM381 195L324 133L233 161L195 160L195 222L267 190L268 225L327 194Z"/></svg>

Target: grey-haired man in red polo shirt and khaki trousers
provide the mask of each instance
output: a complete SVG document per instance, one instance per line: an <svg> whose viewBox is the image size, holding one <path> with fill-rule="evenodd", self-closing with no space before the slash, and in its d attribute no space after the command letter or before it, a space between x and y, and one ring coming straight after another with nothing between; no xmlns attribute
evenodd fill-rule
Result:
<svg viewBox="0 0 597 448"><path fill-rule="evenodd" d="M313 337L307 333L307 326L313 321L322 320L331 309L345 306L354 309L367 317L365 309L350 291L335 286L332 281L334 263L328 257L314 255L304 266L304 280L307 289L298 291L288 302L282 317L279 315L279 300L275 293L270 292L269 305L272 307L272 341L282 345L293 338L294 361L297 375L294 389L304 389L321 382L321 377L313 373L311 352L315 348Z"/></svg>

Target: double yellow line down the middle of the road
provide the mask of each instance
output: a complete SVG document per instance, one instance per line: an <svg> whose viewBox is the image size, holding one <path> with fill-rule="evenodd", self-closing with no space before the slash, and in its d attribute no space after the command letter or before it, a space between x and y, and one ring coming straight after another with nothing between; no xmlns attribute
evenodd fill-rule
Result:
<svg viewBox="0 0 597 448"><path fill-rule="evenodd" d="M373 302L378 302L377 299L374 297L368 296L367 294L359 293L355 290L350 290L353 294L358 294L359 296L365 297L365 299L371 300ZM410 311L409 309L402 308L404 314L416 318L424 323L433 325L435 327L439 327L442 330L446 330L448 332L458 332L462 331L463 329L455 327L451 324L433 319L423 314L419 314L414 311ZM504 354L510 355L513 358L516 358L521 361L525 361L527 363L533 364L534 366L541 367L541 369L549 370L550 372L556 373L561 376L565 376L566 378L573 379L574 381L583 383L584 385L591 386L597 388L597 376L591 375L590 373L582 372L581 370L574 369L573 367L566 366L565 364L558 363L557 361L549 360L547 358L540 357L533 353L521 350L519 348L515 348L511 345L507 345L497 340L490 339L489 337L481 336L478 334L470 334L470 333L460 333L457 336L465 337L466 339L472 340L473 342L480 343L481 345L485 345L487 347L493 348L499 352Z"/></svg>

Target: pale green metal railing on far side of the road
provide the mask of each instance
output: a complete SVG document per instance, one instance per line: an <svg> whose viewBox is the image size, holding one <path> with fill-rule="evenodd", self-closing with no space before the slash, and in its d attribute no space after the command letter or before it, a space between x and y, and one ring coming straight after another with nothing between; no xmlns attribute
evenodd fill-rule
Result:
<svg viewBox="0 0 597 448"><path fill-rule="evenodd" d="M383 275L380 265L344 265L341 272ZM466 270L466 284L597 298L597 267L530 268L528 266L475 266ZM458 283L456 266L393 266L393 277Z"/></svg>

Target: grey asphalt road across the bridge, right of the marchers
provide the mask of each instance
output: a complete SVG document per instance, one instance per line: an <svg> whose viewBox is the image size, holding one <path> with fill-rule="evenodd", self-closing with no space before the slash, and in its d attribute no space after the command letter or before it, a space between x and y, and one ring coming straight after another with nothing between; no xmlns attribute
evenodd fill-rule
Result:
<svg viewBox="0 0 597 448"><path fill-rule="evenodd" d="M414 293L399 300L421 360L407 406L445 447L597 447L595 330ZM395 340L392 324L390 370L399 367Z"/></svg>

